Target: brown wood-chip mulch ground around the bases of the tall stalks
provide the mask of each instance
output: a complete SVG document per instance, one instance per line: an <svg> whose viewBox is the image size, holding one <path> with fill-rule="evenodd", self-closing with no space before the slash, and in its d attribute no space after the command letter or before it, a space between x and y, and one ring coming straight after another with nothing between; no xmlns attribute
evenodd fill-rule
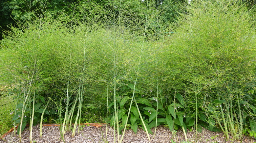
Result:
<svg viewBox="0 0 256 143"><path fill-rule="evenodd" d="M153 133L155 130L153 130ZM77 131L76 131L77 132ZM26 127L22 133L22 143L29 143L30 139L29 128ZM114 142L114 130L111 127L108 127L107 140L106 136L106 127L95 127L95 126L85 126L82 127L79 135L75 135L74 138L71 137L71 133L65 134L66 143L113 143ZM121 135L120 135L121 138ZM159 126L157 127L156 136L153 138L153 135L150 135L152 143L181 143L185 140L182 130L178 130L176 133L176 138L173 138L173 135L169 128ZM195 141L195 131L188 131L187 138L189 142ZM3 141L0 139L0 143L18 143L18 136L14 137L13 132L5 136ZM172 140L173 141L172 141ZM43 126L43 137L40 138L39 134L39 125L33 127L33 142L35 143L63 143L60 137L59 128L57 126ZM116 142L117 136L116 136ZM254 143L255 139L249 136L243 136L241 141L227 141L223 136L223 133L220 132L211 132L203 128L202 133L198 133L198 143ZM138 128L137 134L129 129L126 130L123 143L150 143L146 133ZM174 142L173 142L174 143Z"/></svg>

